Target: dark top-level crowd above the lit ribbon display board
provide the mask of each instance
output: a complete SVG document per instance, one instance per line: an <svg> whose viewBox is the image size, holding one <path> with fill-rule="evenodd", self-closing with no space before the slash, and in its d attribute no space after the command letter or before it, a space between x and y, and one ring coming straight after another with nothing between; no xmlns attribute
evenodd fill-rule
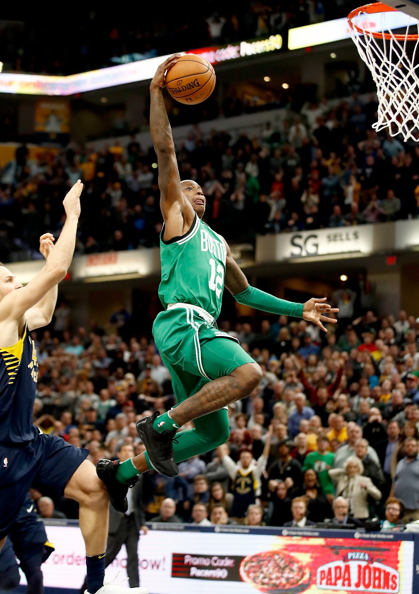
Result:
<svg viewBox="0 0 419 594"><path fill-rule="evenodd" d="M234 43L344 17L347 0L206 0L177 5L141 5L112 17L105 8L80 8L56 26L51 13L29 7L0 26L0 55L14 71L75 74L174 51ZM11 11L13 12L13 11ZM22 23L23 21L23 23ZM286 43L284 44L286 47ZM112 59L114 58L114 59ZM116 59L115 59L116 58ZM119 58L119 60L118 60ZM122 58L122 60L121 60Z"/></svg>

